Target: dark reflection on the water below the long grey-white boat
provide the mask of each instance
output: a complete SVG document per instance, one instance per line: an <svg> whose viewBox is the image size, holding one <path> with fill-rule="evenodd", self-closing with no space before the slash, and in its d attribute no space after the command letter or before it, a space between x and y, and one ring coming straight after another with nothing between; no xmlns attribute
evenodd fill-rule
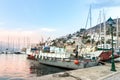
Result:
<svg viewBox="0 0 120 80"><path fill-rule="evenodd" d="M39 64L37 61L31 61L31 65L29 69L30 69L30 73L36 74L36 76L42 76L51 73L66 71L66 69L60 69L52 66Z"/></svg>

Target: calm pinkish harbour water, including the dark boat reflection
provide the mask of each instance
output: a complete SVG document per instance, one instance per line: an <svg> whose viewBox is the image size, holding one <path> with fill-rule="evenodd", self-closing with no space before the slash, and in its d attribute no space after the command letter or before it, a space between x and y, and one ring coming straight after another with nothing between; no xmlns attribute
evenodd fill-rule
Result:
<svg viewBox="0 0 120 80"><path fill-rule="evenodd" d="M28 80L62 71L66 70L28 60L25 54L0 54L0 80Z"/></svg>

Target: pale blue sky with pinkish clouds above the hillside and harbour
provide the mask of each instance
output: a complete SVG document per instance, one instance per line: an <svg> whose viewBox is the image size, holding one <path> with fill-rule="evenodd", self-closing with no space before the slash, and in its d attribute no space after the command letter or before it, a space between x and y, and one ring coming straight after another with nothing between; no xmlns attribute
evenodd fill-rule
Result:
<svg viewBox="0 0 120 80"><path fill-rule="evenodd" d="M120 0L0 0L0 41L38 43L74 33L85 28L90 5L92 26L99 23L100 11L105 20L120 17Z"/></svg>

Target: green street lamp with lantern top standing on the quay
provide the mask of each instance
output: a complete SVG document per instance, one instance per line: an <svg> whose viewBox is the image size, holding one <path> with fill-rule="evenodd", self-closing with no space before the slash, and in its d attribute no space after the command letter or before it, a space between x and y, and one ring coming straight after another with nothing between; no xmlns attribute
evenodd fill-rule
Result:
<svg viewBox="0 0 120 80"><path fill-rule="evenodd" d="M111 27L111 38L112 38L112 64L111 64L111 71L116 71L115 69L115 62L114 62L114 51L113 51L113 24L115 24L114 20L110 17L108 20L107 20L107 23L110 25Z"/></svg>

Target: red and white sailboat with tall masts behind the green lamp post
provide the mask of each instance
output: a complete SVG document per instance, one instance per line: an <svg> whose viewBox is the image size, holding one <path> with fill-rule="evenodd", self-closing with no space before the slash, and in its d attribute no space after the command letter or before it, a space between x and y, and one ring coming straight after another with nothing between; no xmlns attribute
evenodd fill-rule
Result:
<svg viewBox="0 0 120 80"><path fill-rule="evenodd" d="M91 10L91 9L90 9ZM91 11L90 11L91 12ZM90 13L91 14L91 13ZM100 15L101 16L101 15ZM104 16L104 44L100 44L97 45L96 47L86 47L86 49L81 50L81 54L84 55L88 55L90 58L94 58L94 59L99 59L100 61L108 61L111 60L111 55L112 55L112 51L111 51L111 44L106 44L106 22L105 22L105 13L103 13ZM90 17L91 20L91 17ZM91 22L91 21L90 21ZM91 23L90 23L91 24ZM101 32L101 19L100 19L100 32ZM101 33L100 33L101 35ZM101 38L101 36L100 36ZM100 39L101 40L101 39ZM91 44L92 45L92 44ZM96 48L96 49L95 49ZM119 57L119 55L117 55L116 53L114 53L115 58Z"/></svg>

